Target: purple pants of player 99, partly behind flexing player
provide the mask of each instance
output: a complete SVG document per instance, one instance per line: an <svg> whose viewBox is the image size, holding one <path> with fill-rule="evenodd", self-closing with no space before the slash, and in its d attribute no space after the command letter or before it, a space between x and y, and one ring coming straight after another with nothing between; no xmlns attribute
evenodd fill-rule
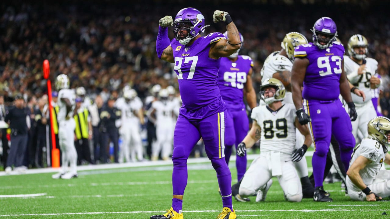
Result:
<svg viewBox="0 0 390 219"><path fill-rule="evenodd" d="M244 140L249 130L249 120L245 110L227 110L227 123L225 125L225 160L229 164L232 146L237 146ZM246 171L246 153L245 156L236 156L237 181L239 181Z"/></svg>

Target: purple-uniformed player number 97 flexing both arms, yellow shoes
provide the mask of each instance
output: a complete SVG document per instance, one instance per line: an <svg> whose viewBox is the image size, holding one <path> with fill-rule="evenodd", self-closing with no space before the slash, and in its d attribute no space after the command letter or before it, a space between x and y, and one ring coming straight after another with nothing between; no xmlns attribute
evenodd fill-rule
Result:
<svg viewBox="0 0 390 219"><path fill-rule="evenodd" d="M214 23L224 21L227 39L222 33L200 34L206 27L202 13L195 8L181 9L175 19L160 19L156 50L162 60L175 63L180 96L180 108L174 131L172 153L172 207L166 214L151 219L183 219L183 194L187 185L187 159L202 137L207 157L218 178L223 211L218 219L236 219L232 207L232 176L225 162L226 106L218 87L220 57L232 55L241 46L236 25L228 12L215 11ZM175 39L168 38L168 26L173 25Z"/></svg>

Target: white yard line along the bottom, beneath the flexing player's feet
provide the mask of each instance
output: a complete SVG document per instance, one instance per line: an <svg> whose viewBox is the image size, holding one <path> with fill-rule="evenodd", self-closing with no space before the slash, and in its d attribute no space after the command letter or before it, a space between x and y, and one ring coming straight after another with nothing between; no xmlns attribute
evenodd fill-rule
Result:
<svg viewBox="0 0 390 219"><path fill-rule="evenodd" d="M221 210L193 210L183 212L220 212ZM390 209L289 209L289 210L240 210L239 212L324 212L324 211L390 211ZM75 212L75 213L49 213L49 214L3 214L0 217L20 217L20 216L53 216L53 215L90 215L90 214L140 214L140 213L160 213L160 211L128 211L128 212ZM241 216L241 215L240 215ZM245 216L245 215L242 215ZM249 215L247 215L249 216ZM257 216L257 215L254 215ZM261 215L263 216L263 215Z"/></svg>

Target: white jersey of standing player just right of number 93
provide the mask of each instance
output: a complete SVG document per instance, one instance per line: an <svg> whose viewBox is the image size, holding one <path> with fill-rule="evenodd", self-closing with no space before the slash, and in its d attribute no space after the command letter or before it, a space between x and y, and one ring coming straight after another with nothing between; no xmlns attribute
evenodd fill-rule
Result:
<svg viewBox="0 0 390 219"><path fill-rule="evenodd" d="M366 73L358 75L359 64L354 62L351 57L344 56L344 71L347 75L348 80L355 87L358 87L359 90L362 90L366 96L364 102L371 101L372 99L372 89L370 85L370 78L374 76L378 70L378 62L373 58L365 58L363 64L366 65ZM351 94L352 100L355 103L362 104L363 99L356 94Z"/></svg>

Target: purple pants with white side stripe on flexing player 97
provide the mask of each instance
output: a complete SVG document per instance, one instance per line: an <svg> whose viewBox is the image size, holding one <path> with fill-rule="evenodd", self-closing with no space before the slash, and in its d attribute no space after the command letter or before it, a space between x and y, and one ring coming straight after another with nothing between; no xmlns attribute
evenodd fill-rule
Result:
<svg viewBox="0 0 390 219"><path fill-rule="evenodd" d="M232 209L232 175L225 162L226 111L209 117L189 120L179 114L174 131L173 146L173 195L183 195L187 185L187 159L195 144L202 137L207 157L210 159L218 178L223 207Z"/></svg>

